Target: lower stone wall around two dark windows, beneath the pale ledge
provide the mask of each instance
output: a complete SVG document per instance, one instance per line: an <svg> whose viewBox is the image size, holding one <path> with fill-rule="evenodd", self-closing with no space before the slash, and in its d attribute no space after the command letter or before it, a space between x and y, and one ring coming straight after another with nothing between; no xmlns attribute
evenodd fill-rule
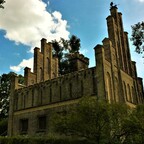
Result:
<svg viewBox="0 0 144 144"><path fill-rule="evenodd" d="M41 107L33 107L30 109L24 109L21 111L15 111L13 115L13 132L12 135L23 134L21 132L21 120L28 120L28 131L29 136L36 136L37 134L48 134L52 131L52 115L56 113L63 113L69 110L71 106L74 106L78 102L78 99L64 101L60 103L53 103L50 105L44 105ZM38 125L38 118L40 116L46 117L46 128L45 130L40 130Z"/></svg>

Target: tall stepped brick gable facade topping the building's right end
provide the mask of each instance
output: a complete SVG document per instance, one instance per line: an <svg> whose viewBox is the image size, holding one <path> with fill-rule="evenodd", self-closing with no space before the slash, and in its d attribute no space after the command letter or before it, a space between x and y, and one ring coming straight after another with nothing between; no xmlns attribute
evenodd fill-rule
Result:
<svg viewBox="0 0 144 144"><path fill-rule="evenodd" d="M117 9L111 5L106 18L108 38L95 47L98 96L110 103L134 106L144 100L140 88L142 79L137 77L136 64L131 61L128 33L124 31L122 14Z"/></svg>

